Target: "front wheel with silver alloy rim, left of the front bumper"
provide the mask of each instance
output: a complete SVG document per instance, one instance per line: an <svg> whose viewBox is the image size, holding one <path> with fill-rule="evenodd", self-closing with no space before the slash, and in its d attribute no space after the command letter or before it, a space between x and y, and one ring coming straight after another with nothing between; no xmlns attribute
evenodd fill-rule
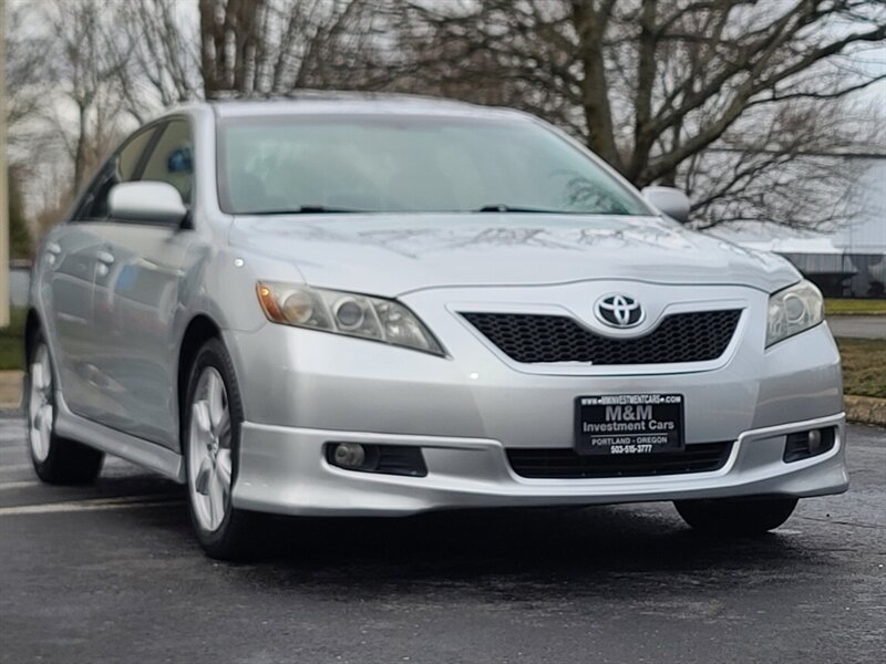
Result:
<svg viewBox="0 0 886 664"><path fill-rule="evenodd" d="M190 522L203 550L219 560L254 553L256 515L235 509L243 402L230 355L217 339L207 341L190 367L182 413L182 454Z"/></svg>

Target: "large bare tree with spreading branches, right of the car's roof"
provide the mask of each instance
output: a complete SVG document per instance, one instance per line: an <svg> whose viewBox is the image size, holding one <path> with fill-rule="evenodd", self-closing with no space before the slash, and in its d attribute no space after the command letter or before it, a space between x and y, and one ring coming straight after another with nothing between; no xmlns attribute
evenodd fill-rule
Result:
<svg viewBox="0 0 886 664"><path fill-rule="evenodd" d="M640 187L697 185L708 214L785 159L845 146L858 127L820 117L885 76L846 59L886 39L883 0L412 2L400 25L401 86L539 114Z"/></svg>

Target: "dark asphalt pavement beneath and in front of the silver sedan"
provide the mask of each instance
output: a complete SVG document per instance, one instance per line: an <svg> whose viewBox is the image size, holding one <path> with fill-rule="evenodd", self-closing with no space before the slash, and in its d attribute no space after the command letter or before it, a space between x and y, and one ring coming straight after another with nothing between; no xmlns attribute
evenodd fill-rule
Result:
<svg viewBox="0 0 886 664"><path fill-rule="evenodd" d="M0 662L883 662L886 429L849 436L849 492L760 538L670 505L286 519L228 564L177 486L40 485L0 418Z"/></svg>

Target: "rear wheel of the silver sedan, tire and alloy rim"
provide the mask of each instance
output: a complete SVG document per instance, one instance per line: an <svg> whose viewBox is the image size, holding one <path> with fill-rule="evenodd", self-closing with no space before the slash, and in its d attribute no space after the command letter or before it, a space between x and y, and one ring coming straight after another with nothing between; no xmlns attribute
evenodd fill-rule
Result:
<svg viewBox="0 0 886 664"><path fill-rule="evenodd" d="M24 378L24 414L28 448L37 476L48 484L72 485L95 481L104 454L55 433L55 377L52 357L42 333L31 339Z"/></svg>

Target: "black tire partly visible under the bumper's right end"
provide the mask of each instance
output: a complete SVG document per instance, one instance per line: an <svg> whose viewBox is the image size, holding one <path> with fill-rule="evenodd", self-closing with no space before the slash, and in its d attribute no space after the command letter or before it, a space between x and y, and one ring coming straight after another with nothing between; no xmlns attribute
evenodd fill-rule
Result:
<svg viewBox="0 0 886 664"><path fill-rule="evenodd" d="M762 535L784 523L796 498L678 500L677 511L689 526L711 535Z"/></svg>

